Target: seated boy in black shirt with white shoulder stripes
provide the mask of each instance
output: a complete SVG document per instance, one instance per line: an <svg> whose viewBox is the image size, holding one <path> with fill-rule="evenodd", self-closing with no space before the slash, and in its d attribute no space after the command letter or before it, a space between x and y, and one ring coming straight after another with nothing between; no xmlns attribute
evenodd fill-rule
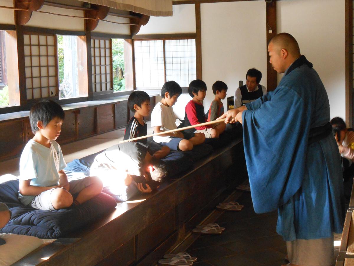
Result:
<svg viewBox="0 0 354 266"><path fill-rule="evenodd" d="M148 134L148 126L144 122L144 116L150 113L150 96L142 90L136 90L129 95L128 106L134 116L129 120L124 131L123 140L146 136ZM146 138L135 140L146 145ZM166 157L170 153L168 147L162 147L159 150L158 157L160 159Z"/></svg>

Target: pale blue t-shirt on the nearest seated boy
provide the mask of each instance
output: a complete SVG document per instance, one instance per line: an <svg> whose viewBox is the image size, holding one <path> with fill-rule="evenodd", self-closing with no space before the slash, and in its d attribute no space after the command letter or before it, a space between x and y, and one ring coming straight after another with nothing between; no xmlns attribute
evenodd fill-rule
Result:
<svg viewBox="0 0 354 266"><path fill-rule="evenodd" d="M24 147L20 159L20 181L32 179L30 185L51 187L59 182L58 171L66 167L62 150L55 140L50 140L50 148L30 139ZM34 196L18 193L22 204L31 203Z"/></svg>

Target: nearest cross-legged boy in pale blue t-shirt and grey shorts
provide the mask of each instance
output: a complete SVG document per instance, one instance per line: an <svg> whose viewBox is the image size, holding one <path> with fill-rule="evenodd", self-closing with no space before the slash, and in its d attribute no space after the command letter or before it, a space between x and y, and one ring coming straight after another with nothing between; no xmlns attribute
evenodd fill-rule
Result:
<svg viewBox="0 0 354 266"><path fill-rule="evenodd" d="M79 205L102 191L97 177L68 182L62 150L55 141L61 132L65 113L55 101L36 103L29 114L33 139L20 159L19 193L22 204L40 210L58 210ZM73 194L78 196L73 199Z"/></svg>

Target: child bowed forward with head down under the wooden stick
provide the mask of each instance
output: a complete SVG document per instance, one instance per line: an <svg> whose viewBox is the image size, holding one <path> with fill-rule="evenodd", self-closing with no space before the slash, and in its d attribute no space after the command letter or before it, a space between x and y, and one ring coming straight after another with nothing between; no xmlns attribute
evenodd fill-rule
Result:
<svg viewBox="0 0 354 266"><path fill-rule="evenodd" d="M152 189L148 183L162 182L167 175L166 165L159 160L162 156L164 157L164 154L159 151L152 155L148 146L142 143L116 144L95 157L90 175L101 178L103 186L109 187L116 195L124 194L132 182L141 192L150 193ZM146 183L134 182L133 176L144 177Z"/></svg>

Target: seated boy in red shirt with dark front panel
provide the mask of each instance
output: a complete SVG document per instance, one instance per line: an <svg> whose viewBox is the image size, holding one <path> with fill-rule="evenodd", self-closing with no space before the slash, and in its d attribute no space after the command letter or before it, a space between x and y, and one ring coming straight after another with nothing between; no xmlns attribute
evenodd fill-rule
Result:
<svg viewBox="0 0 354 266"><path fill-rule="evenodd" d="M191 126L207 122L205 118L204 106L202 101L206 94L206 84L200 79L189 83L188 92L192 100L188 102L184 109L184 126ZM206 138L218 138L219 131L215 125L201 126L185 130L185 132L204 133Z"/></svg>

